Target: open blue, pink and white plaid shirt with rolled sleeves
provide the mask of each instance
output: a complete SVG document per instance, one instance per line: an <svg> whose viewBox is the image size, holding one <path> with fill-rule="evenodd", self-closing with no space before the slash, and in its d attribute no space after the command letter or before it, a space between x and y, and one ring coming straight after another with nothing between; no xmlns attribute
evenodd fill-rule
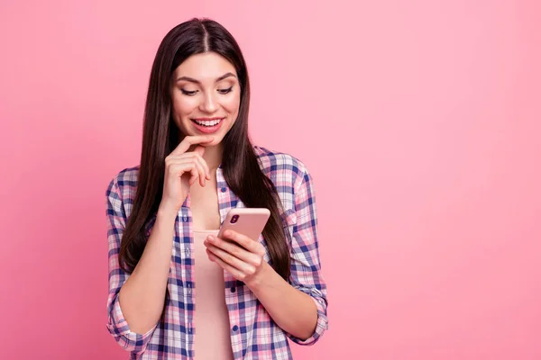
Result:
<svg viewBox="0 0 541 360"><path fill-rule="evenodd" d="M225 302L229 313L234 359L291 359L288 338L300 345L312 345L327 329L326 283L321 275L317 247L316 202L312 178L295 157L255 147L261 169L275 184L283 203L289 234L291 276L289 284L307 293L316 303L317 326L311 338L295 338L271 319L250 289L224 272ZM130 351L131 359L194 359L194 311L192 290L195 284L193 226L190 198L184 202L175 221L170 275L162 319L146 334L130 331L118 293L129 274L118 263L124 226L132 210L139 167L121 171L109 184L107 198L107 237L109 242L109 296L107 329L115 340ZM216 170L219 210L222 221L243 202L229 190L222 168ZM149 221L148 232L155 215ZM286 231L286 233L288 232ZM261 236L261 243L265 240ZM269 261L269 253L265 255Z"/></svg>

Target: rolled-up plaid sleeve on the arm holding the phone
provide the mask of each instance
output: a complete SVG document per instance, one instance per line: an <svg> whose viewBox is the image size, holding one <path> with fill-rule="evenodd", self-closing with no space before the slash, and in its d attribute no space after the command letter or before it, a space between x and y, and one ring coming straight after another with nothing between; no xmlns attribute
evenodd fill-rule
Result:
<svg viewBox="0 0 541 360"><path fill-rule="evenodd" d="M295 186L295 217L291 238L291 276L289 283L307 293L316 303L317 325L310 338L300 339L289 335L299 345L313 345L328 329L326 281L321 274L317 245L316 197L312 177L307 170Z"/></svg>

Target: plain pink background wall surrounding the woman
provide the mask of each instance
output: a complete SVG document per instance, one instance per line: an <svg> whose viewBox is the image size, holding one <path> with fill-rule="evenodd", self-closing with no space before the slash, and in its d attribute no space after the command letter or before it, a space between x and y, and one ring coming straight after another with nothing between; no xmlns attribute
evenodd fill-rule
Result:
<svg viewBox="0 0 541 360"><path fill-rule="evenodd" d="M77 4L76 4L77 3ZM0 4L3 359L122 359L105 187L171 27L223 23L252 135L316 181L331 329L296 359L541 358L538 1Z"/></svg>

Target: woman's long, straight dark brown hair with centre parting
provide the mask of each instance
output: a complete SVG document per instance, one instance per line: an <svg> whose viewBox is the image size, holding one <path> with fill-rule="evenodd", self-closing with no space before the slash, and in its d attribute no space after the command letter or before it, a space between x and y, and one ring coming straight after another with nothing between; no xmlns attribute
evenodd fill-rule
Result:
<svg viewBox="0 0 541 360"><path fill-rule="evenodd" d="M234 66L241 88L241 103L234 126L222 140L222 168L229 188L246 207L271 211L262 235L271 266L289 280L289 247L284 232L282 206L276 187L261 171L248 134L250 83L246 63L229 31L215 21L192 19L173 28L161 41L152 64L144 111L142 155L132 213L121 241L119 262L131 273L148 239L145 228L158 211L163 191L165 157L179 145L179 129L171 118L170 81L173 71L192 55L213 51Z"/></svg>

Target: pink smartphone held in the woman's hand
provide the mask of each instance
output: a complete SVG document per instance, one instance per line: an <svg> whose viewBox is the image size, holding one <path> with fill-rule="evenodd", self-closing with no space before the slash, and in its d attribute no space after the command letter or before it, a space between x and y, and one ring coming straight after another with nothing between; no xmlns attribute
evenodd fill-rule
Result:
<svg viewBox="0 0 541 360"><path fill-rule="evenodd" d="M232 229L257 241L270 217L271 211L264 208L231 209L218 231L218 238L222 238L226 229Z"/></svg>

